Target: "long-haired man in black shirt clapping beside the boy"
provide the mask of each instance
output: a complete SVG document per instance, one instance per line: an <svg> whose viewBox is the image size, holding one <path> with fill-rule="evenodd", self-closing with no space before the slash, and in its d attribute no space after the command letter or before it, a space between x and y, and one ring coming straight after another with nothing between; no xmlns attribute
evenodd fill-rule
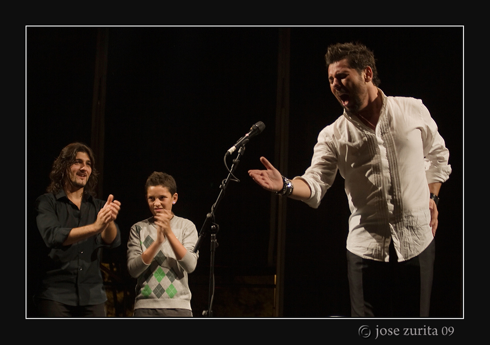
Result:
<svg viewBox="0 0 490 345"><path fill-rule="evenodd" d="M47 194L36 200L37 227L49 248L35 296L42 317L103 317L106 295L100 273L102 247L121 244L114 223L121 203L93 197L94 154L71 143L54 161Z"/></svg>

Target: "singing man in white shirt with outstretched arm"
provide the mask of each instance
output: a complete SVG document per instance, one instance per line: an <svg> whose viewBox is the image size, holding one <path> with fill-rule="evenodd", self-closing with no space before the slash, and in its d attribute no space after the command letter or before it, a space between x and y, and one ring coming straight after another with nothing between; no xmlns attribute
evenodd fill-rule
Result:
<svg viewBox="0 0 490 345"><path fill-rule="evenodd" d="M248 173L263 188L317 208L339 171L351 210L351 315L429 316L437 203L451 173L449 152L421 100L378 89L366 46L329 46L325 61L344 112L319 133L311 166L289 180L261 157L266 170Z"/></svg>

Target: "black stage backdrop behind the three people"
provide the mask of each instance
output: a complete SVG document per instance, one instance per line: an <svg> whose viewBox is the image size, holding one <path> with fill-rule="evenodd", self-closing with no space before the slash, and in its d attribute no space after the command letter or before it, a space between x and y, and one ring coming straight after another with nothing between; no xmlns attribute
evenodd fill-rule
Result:
<svg viewBox="0 0 490 345"><path fill-rule="evenodd" d="M117 222L123 244L110 254L122 268L129 228L150 215L144 198L147 176L153 171L174 176L179 199L173 210L199 231L227 176L224 153L263 121L266 129L247 144L235 174L240 183L229 184L217 212L216 265L221 276L274 274L275 265L268 262L271 196L247 170L261 167L260 156L274 163L280 30L108 29L103 195L98 197L114 194L122 203ZM453 169L440 193L431 316L462 316L463 28L292 27L290 32L285 175L304 172L319 131L342 114L323 58L330 44L364 43L374 51L383 92L420 98L431 112ZM73 141L90 145L97 33L97 27L26 28L27 301L37 279L36 256L44 250L38 245L34 200L45 192L61 148ZM350 212L342 178L318 209L289 200L287 210L284 316L349 316L345 239ZM207 304L208 272L209 237L189 276L195 315ZM134 289L123 269L119 276ZM249 304L245 301L233 315L222 314L253 316Z"/></svg>

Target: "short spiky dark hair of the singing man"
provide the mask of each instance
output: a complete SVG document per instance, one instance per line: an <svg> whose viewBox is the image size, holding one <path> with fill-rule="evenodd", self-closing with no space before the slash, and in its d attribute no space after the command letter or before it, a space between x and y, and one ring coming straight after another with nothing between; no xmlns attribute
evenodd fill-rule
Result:
<svg viewBox="0 0 490 345"><path fill-rule="evenodd" d="M381 83L376 70L374 54L365 45L361 43L337 43L328 46L325 54L327 69L328 65L343 59L347 59L349 66L359 73L369 66L372 69L372 83L375 86Z"/></svg>

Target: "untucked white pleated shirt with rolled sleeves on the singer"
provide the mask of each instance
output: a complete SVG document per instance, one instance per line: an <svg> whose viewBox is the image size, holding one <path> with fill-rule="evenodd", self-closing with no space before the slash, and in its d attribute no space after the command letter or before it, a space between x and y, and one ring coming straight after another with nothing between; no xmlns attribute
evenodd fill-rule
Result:
<svg viewBox="0 0 490 345"><path fill-rule="evenodd" d="M379 93L383 106L375 131L344 112L320 132L311 166L300 178L312 191L306 204L317 208L339 170L351 211L347 250L389 261L393 239L398 261L404 261L433 239L428 184L448 179L449 152L421 100Z"/></svg>

